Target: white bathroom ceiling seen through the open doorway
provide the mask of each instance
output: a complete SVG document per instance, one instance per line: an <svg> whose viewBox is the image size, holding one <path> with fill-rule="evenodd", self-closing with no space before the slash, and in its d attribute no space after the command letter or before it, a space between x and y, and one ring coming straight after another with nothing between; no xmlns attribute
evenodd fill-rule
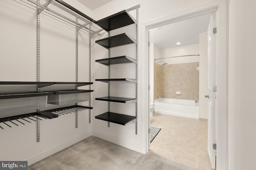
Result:
<svg viewBox="0 0 256 170"><path fill-rule="evenodd" d="M150 29L150 43L160 49L199 44L199 34L207 32L211 14ZM176 45L180 42L180 45Z"/></svg>

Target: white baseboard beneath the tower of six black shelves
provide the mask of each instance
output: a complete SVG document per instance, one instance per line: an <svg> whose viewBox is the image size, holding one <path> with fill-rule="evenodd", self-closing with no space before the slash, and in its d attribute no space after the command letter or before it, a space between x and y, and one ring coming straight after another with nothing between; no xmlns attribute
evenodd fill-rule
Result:
<svg viewBox="0 0 256 170"><path fill-rule="evenodd" d="M130 150L134 150L136 152L142 153L142 146L138 145L138 143L133 143L130 141L126 141L124 139L120 139L118 137L114 137L111 135L107 135L98 131L92 131L92 135L95 137L98 137L100 139L104 139L105 141L109 141L111 143L114 143L116 145L120 145L122 147L125 147Z"/></svg>

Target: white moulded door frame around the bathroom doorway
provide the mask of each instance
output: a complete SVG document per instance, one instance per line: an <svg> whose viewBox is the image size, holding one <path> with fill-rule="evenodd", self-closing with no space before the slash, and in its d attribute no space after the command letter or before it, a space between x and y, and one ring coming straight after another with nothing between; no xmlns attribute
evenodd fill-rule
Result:
<svg viewBox="0 0 256 170"><path fill-rule="evenodd" d="M217 157L216 157L216 168L218 169L228 169L228 15L227 15L227 1L221 0L200 6L198 8L193 8L178 14L160 18L158 20L153 20L147 23L143 23L141 26L142 35L141 39L143 42L142 55L145 56L142 61L145 63L146 72L146 83L144 92L146 96L145 101L145 121L143 121L142 129L142 146L146 153L148 152L148 137L149 137L149 58L148 58L148 30L170 23L175 23L178 21L186 20L196 16L209 14L216 12L216 25L217 25L217 53L216 53L216 86L217 92L216 96L218 100L216 102L216 136L217 136Z"/></svg>

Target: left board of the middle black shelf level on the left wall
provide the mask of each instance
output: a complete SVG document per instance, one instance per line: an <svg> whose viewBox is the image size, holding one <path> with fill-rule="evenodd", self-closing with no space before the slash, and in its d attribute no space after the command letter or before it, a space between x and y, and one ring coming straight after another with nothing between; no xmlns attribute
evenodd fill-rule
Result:
<svg viewBox="0 0 256 170"><path fill-rule="evenodd" d="M0 94L0 99L12 99L12 98L28 98L36 96L50 96L54 95L53 92L18 92L18 93L4 93Z"/></svg>

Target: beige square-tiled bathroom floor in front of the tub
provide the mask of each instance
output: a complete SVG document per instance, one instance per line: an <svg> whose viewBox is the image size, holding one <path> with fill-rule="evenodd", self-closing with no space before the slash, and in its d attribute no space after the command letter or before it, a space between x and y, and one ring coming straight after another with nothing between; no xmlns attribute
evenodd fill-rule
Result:
<svg viewBox="0 0 256 170"><path fill-rule="evenodd" d="M207 151L207 121L154 113L150 122L162 127L150 152L200 170L213 170Z"/></svg>

